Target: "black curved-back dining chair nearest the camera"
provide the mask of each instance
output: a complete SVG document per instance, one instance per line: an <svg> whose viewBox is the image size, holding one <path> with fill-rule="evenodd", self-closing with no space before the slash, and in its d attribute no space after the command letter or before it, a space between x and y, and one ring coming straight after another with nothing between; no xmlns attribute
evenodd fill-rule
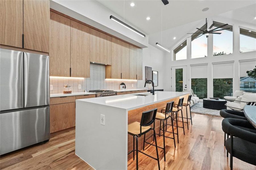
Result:
<svg viewBox="0 0 256 170"><path fill-rule="evenodd" d="M256 165L256 129L247 120L234 118L224 118L222 129L230 134L225 145L230 153L230 169L233 169L233 156Z"/></svg>

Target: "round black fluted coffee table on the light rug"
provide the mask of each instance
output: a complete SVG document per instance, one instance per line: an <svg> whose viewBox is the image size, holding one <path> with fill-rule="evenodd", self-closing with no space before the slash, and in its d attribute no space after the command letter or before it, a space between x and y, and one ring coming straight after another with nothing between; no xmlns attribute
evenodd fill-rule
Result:
<svg viewBox="0 0 256 170"><path fill-rule="evenodd" d="M218 99L218 100L208 100L203 99L203 108L205 109L213 109L213 110L222 110L227 109L226 100Z"/></svg>

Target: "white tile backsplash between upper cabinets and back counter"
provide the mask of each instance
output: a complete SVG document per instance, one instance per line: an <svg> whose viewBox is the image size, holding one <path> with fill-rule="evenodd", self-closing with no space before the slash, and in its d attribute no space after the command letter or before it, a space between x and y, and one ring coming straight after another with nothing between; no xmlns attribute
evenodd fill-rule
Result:
<svg viewBox="0 0 256 170"><path fill-rule="evenodd" d="M50 85L52 85L50 94L63 93L64 85L67 84L71 86L72 93L84 92L84 90L119 90L122 82L126 85L126 89L137 88L137 80L105 80L105 66L90 64L90 78L50 77ZM78 85L81 85L81 89L78 89Z"/></svg>

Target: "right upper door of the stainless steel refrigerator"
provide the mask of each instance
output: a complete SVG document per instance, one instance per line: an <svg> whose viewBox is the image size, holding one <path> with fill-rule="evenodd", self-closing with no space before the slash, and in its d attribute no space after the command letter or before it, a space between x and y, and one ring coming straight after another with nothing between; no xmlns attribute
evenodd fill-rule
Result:
<svg viewBox="0 0 256 170"><path fill-rule="evenodd" d="M49 105L49 56L24 52L24 107Z"/></svg>

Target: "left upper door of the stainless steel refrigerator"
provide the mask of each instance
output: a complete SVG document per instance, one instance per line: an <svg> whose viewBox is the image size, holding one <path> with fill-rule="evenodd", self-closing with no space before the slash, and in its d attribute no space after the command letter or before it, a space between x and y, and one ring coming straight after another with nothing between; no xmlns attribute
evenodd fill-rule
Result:
<svg viewBox="0 0 256 170"><path fill-rule="evenodd" d="M23 52L0 49L0 110L23 108Z"/></svg>

